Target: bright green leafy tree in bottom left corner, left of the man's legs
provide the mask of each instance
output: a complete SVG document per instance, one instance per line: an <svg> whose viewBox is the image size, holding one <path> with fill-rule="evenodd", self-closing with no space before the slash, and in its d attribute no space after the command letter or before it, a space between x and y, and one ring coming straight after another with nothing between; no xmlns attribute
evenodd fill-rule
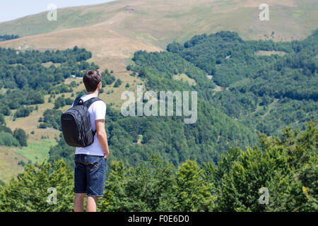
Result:
<svg viewBox="0 0 318 226"><path fill-rule="evenodd" d="M57 191L57 203L47 201L48 189ZM71 211L73 210L73 174L63 160L51 164L44 160L27 165L24 172L0 186L1 211Z"/></svg>

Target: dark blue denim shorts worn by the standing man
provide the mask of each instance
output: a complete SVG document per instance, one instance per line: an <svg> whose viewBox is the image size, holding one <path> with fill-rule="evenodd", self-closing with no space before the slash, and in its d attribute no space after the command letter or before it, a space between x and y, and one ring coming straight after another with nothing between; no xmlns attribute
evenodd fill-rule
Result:
<svg viewBox="0 0 318 226"><path fill-rule="evenodd" d="M74 192L102 197L107 162L104 156L78 154L74 161Z"/></svg>

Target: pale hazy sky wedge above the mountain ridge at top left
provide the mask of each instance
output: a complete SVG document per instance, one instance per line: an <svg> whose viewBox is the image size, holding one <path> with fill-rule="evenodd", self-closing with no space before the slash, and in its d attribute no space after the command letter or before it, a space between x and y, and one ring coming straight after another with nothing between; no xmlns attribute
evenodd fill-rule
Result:
<svg viewBox="0 0 318 226"><path fill-rule="evenodd" d="M57 8L101 4L113 0L0 0L0 22L48 11L49 4Z"/></svg>

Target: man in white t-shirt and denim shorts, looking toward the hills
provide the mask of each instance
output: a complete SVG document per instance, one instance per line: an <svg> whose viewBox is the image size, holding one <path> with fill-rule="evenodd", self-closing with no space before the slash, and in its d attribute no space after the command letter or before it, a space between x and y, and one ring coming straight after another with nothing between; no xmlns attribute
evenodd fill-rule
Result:
<svg viewBox="0 0 318 226"><path fill-rule="evenodd" d="M102 89L102 76L99 71L88 71L83 76L83 83L88 93L81 96L85 102L98 97ZM83 212L83 201L87 194L86 212L96 212L98 197L104 193L105 169L110 150L105 131L106 105L95 101L88 107L90 124L96 130L94 142L86 148L76 148L74 170L74 211Z"/></svg>

